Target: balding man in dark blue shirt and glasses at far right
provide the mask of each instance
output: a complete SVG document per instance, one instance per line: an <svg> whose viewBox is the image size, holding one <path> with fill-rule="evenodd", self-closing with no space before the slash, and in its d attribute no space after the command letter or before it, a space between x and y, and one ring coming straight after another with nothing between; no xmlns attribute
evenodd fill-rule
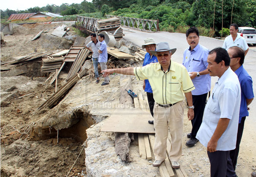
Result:
<svg viewBox="0 0 256 177"><path fill-rule="evenodd" d="M244 130L244 121L246 116L249 115L249 108L247 107L254 98L253 95L253 80L251 76L247 73L247 71L243 67L244 63L244 50L234 46L228 49L228 54L230 56L230 67L238 76L240 86L241 86L241 105L239 112L239 124L238 124L238 132L236 139L236 149L230 151L230 158L233 163L233 168L236 170L237 157L239 154L239 145L241 142L241 138Z"/></svg>

